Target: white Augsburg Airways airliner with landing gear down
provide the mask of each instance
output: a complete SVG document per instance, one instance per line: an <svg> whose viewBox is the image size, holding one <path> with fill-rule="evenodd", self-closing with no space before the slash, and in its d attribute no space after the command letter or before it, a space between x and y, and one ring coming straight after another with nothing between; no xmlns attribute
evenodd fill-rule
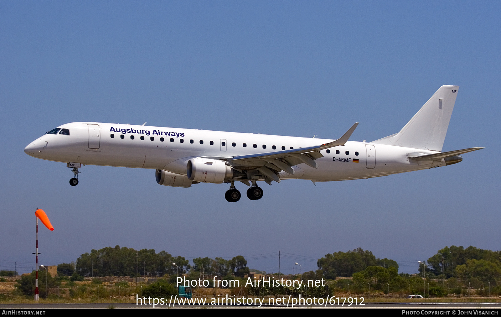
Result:
<svg viewBox="0 0 501 317"><path fill-rule="evenodd" d="M73 122L31 142L25 152L73 168L81 165L153 169L160 185L191 187L229 183L228 202L240 199L234 182L250 186L247 197L281 180L316 182L367 179L436 168L462 161L471 147L442 152L459 86L442 86L400 132L366 142L348 141L358 123L337 140L207 131L99 122Z"/></svg>

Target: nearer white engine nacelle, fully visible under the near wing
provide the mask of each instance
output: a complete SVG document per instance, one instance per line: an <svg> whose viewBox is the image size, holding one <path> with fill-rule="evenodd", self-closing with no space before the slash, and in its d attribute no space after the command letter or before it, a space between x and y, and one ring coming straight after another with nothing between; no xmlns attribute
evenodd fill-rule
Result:
<svg viewBox="0 0 501 317"><path fill-rule="evenodd" d="M233 178L233 169L224 162L210 158L191 158L186 166L191 181L221 184Z"/></svg>

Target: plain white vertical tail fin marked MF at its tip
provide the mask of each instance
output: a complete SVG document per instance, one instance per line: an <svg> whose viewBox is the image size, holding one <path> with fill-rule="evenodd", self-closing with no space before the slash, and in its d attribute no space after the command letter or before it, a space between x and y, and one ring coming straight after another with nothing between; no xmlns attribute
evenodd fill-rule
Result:
<svg viewBox="0 0 501 317"><path fill-rule="evenodd" d="M444 85L396 134L372 143L441 151L459 86Z"/></svg>

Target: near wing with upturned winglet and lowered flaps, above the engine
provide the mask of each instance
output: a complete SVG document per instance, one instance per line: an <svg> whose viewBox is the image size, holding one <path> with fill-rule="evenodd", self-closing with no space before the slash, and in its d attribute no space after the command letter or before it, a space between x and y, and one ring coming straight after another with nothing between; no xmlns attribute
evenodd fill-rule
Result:
<svg viewBox="0 0 501 317"><path fill-rule="evenodd" d="M344 145L346 141L348 141L348 138L350 138L353 131L355 131L357 125L358 122L353 124L353 126L348 131L346 131L343 136L329 143L288 149L283 151L238 155L228 157L227 160L233 166L257 167L264 176L280 183L278 172L285 171L293 175L294 170L291 168L291 166L305 163L306 165L317 169L318 164L315 162L315 160L324 156L320 153L320 150L329 147Z"/></svg>

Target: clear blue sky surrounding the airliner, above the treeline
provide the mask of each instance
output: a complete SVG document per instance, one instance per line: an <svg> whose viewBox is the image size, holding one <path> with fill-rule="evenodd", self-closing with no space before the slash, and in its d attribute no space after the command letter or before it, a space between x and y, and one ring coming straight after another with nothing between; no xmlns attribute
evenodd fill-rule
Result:
<svg viewBox="0 0 501 317"><path fill-rule="evenodd" d="M498 2L16 2L0 0L0 269L107 246L186 258L361 247L417 272L448 245L499 250ZM154 171L23 152L74 121L337 138L398 132L441 85L459 85L443 150L485 149L439 169L369 180L284 181L260 201L227 185L156 184ZM240 190L244 190L240 186ZM298 257L299 258L299 257ZM298 260L283 258L281 271ZM407 262L410 261L410 262ZM290 263L289 263L290 262ZM276 272L278 259L249 260Z"/></svg>

